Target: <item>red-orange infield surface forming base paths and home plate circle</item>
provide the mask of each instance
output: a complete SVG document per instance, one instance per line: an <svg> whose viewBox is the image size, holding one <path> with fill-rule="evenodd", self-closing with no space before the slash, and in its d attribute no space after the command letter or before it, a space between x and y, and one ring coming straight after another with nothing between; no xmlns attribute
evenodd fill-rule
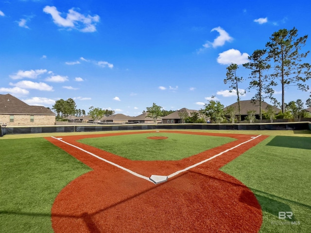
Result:
<svg viewBox="0 0 311 233"><path fill-rule="evenodd" d="M151 133L127 132L63 136L63 140L104 159L150 177L169 175L251 139L253 135L160 131L227 136L236 141L179 161L131 161L76 140L86 137ZM101 161L54 138L46 138L92 171L70 182L52 206L55 233L257 233L259 202L249 188L219 170L267 136L260 136L200 166L154 184Z"/></svg>

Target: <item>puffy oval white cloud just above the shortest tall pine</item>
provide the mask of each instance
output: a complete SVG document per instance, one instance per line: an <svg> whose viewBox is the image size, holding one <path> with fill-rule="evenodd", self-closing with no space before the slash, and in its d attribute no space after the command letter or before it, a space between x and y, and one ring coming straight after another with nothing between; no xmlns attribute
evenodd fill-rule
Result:
<svg viewBox="0 0 311 233"><path fill-rule="evenodd" d="M239 50L231 49L219 53L217 62L222 65L230 65L231 63L242 65L249 62L248 56L246 52L241 53Z"/></svg>

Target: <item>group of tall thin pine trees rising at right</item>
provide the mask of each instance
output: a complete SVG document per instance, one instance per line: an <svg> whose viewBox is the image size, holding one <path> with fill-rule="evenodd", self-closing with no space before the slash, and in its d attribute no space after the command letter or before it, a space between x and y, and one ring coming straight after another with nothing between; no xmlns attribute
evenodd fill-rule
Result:
<svg viewBox="0 0 311 233"><path fill-rule="evenodd" d="M260 120L262 120L261 103L265 99L272 100L275 106L281 108L282 114L285 114L286 108L288 108L288 104L285 103L285 87L296 86L302 91L309 90L306 81L311 77L311 65L304 63L303 59L310 51L300 52L301 48L305 46L307 38L308 35L298 37L296 28L280 29L272 34L265 49L255 50L248 57L249 62L242 65L250 70L248 78L251 81L248 89L256 90L252 100L259 100ZM241 88L239 89L239 84L244 80L237 75L238 68L237 64L226 67L224 83L230 84L230 91L235 90L237 93L239 120L241 120L240 96L245 94L245 91L241 92ZM278 102L273 96L276 85L281 85L281 102ZM310 107L311 99L306 101L306 105Z"/></svg>

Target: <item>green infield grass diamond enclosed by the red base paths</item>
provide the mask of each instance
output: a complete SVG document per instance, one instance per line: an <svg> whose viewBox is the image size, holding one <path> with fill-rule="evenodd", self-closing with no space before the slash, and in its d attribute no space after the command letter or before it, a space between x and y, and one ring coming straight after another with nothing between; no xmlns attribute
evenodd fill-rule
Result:
<svg viewBox="0 0 311 233"><path fill-rule="evenodd" d="M164 136L154 140L147 137ZM180 160L236 139L183 133L139 133L85 138L79 142L131 160Z"/></svg>

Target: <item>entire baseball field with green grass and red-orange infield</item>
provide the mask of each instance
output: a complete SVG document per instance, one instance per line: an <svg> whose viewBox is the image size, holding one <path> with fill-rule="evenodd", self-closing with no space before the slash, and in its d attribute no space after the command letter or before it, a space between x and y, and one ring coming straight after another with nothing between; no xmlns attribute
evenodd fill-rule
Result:
<svg viewBox="0 0 311 233"><path fill-rule="evenodd" d="M311 231L311 132L0 138L0 232Z"/></svg>

